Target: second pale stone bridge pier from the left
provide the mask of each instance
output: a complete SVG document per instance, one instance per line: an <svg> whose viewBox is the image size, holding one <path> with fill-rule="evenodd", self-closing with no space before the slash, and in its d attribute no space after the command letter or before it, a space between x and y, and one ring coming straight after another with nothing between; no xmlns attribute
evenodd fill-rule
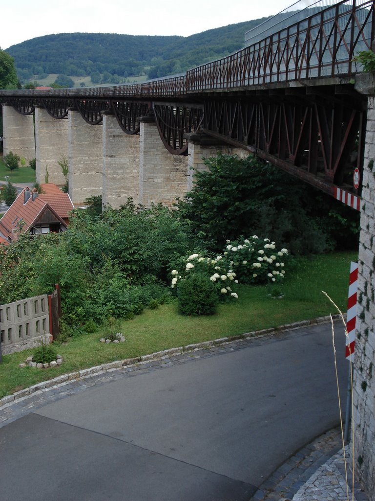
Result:
<svg viewBox="0 0 375 501"><path fill-rule="evenodd" d="M68 118L56 119L42 107L35 107L36 181L63 186L66 182L58 161L67 160ZM47 173L48 172L48 173Z"/></svg>

